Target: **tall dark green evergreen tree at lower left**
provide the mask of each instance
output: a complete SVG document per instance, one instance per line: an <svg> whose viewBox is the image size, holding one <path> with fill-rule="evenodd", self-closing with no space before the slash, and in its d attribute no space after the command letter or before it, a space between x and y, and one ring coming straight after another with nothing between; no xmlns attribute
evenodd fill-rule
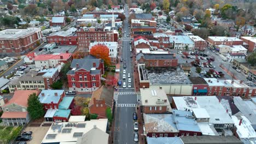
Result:
<svg viewBox="0 0 256 144"><path fill-rule="evenodd" d="M30 113L32 119L38 119L44 116L43 105L39 101L36 93L30 94L27 99L27 111Z"/></svg>

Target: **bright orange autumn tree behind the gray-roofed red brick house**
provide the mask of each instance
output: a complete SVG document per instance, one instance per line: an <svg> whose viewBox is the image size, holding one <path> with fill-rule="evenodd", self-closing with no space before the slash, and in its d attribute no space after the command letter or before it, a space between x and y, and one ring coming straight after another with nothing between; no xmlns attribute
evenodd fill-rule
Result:
<svg viewBox="0 0 256 144"><path fill-rule="evenodd" d="M106 45L97 44L91 47L90 54L97 58L101 58L105 65L110 65L109 49Z"/></svg>

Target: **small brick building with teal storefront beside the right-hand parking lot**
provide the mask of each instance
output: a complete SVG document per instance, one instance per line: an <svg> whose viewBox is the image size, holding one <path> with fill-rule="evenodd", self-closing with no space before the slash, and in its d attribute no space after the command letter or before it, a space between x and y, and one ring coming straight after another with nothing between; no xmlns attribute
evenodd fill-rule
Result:
<svg viewBox="0 0 256 144"><path fill-rule="evenodd" d="M202 77L189 77L193 83L193 90L191 95L207 95L208 83Z"/></svg>

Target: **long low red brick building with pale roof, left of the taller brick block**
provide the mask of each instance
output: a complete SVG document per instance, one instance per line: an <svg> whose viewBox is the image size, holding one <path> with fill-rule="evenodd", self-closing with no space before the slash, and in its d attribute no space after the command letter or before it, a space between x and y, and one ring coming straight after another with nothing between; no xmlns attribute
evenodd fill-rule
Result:
<svg viewBox="0 0 256 144"><path fill-rule="evenodd" d="M67 31L51 33L46 39L48 44L77 45L77 34Z"/></svg>

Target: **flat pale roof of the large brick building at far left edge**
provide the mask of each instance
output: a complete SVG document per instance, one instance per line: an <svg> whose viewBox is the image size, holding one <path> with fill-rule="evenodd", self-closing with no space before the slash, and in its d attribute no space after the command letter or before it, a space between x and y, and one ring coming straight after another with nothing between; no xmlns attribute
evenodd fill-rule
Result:
<svg viewBox="0 0 256 144"><path fill-rule="evenodd" d="M40 28L28 28L28 29L5 29L0 32L0 39L17 39L31 35L35 32L39 32Z"/></svg>

